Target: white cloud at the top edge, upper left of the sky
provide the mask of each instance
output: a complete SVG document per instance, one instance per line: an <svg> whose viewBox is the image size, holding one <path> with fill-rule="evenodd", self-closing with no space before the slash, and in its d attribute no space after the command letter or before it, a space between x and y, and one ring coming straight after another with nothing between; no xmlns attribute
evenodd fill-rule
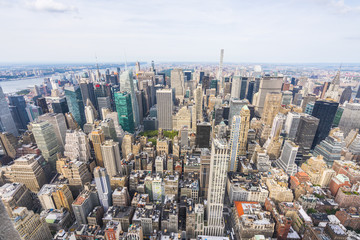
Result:
<svg viewBox="0 0 360 240"><path fill-rule="evenodd" d="M26 7L35 11L53 12L53 13L66 13L77 12L78 9L72 5L66 5L56 0L35 0L27 1Z"/></svg>

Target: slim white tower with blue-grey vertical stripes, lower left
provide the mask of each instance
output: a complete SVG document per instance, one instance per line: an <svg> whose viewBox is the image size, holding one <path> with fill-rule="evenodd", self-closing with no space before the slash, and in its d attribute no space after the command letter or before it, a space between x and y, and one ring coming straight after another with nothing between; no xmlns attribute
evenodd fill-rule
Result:
<svg viewBox="0 0 360 240"><path fill-rule="evenodd" d="M112 206L112 192L110 186L110 178L105 168L96 167L94 169L94 179L96 183L96 189L98 191L99 200L101 206L107 211Z"/></svg>

